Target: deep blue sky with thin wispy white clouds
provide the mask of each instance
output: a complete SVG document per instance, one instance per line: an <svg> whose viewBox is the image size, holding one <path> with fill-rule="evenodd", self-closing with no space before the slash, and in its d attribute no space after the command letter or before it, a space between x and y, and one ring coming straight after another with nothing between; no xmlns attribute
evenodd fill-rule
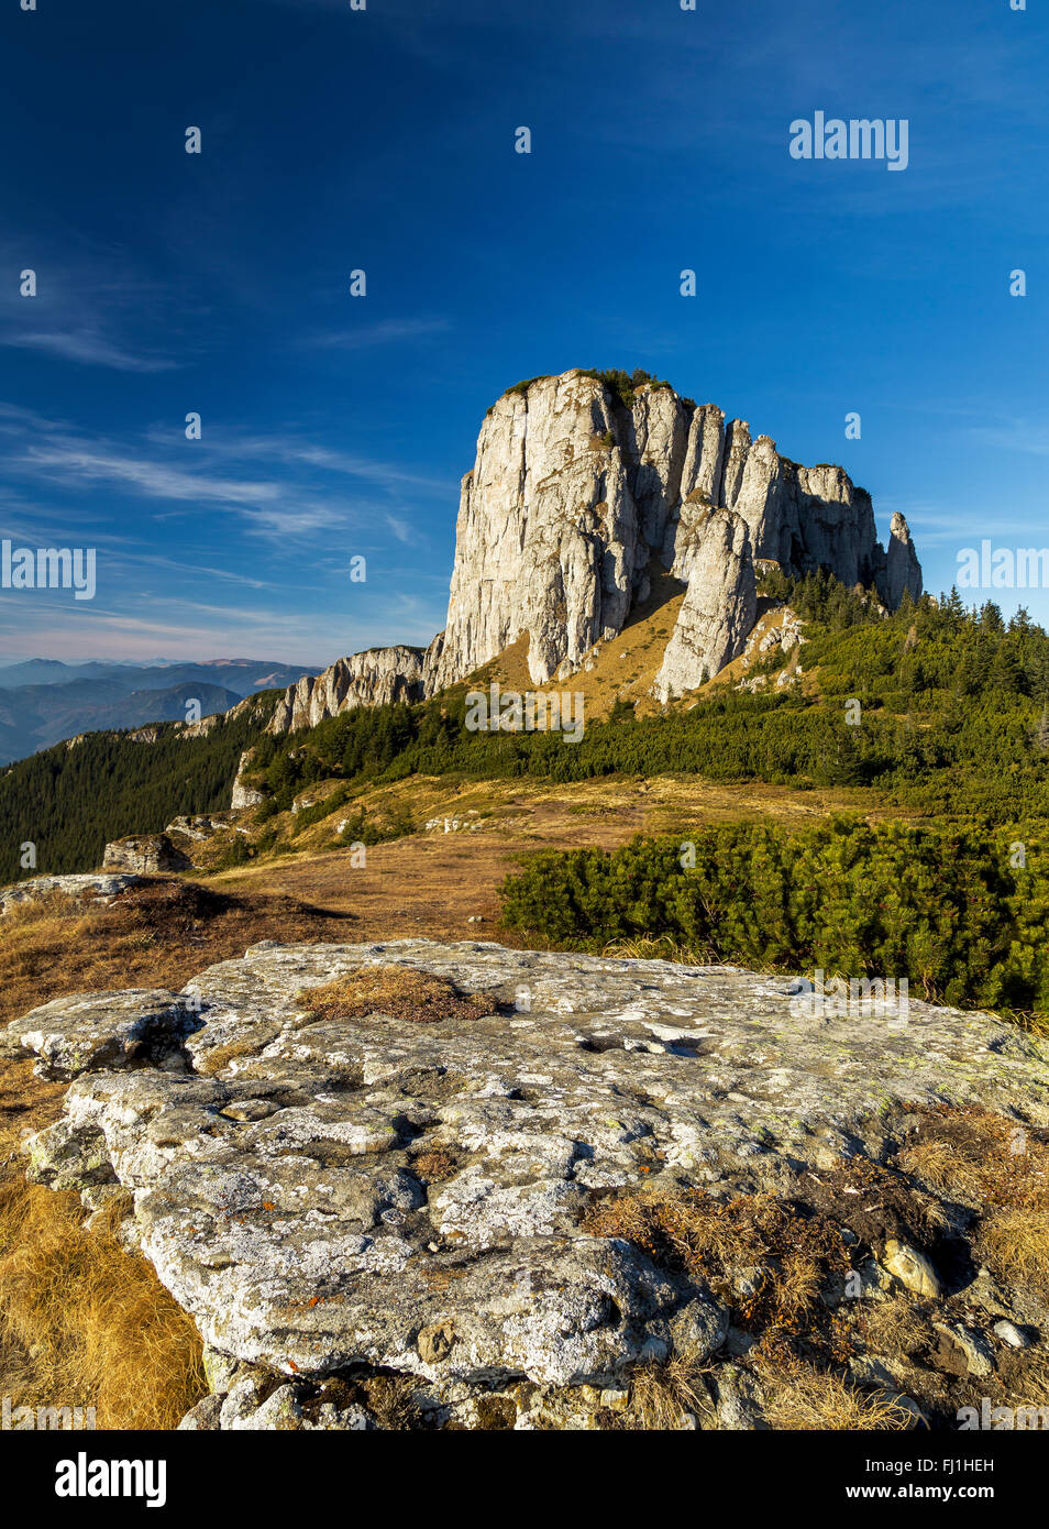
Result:
<svg viewBox="0 0 1049 1529"><path fill-rule="evenodd" d="M1049 544L1044 11L9 0L0 532L96 547L98 593L0 592L0 653L427 642L485 408L572 365L841 462L933 590ZM794 161L815 110L907 118L908 168Z"/></svg>

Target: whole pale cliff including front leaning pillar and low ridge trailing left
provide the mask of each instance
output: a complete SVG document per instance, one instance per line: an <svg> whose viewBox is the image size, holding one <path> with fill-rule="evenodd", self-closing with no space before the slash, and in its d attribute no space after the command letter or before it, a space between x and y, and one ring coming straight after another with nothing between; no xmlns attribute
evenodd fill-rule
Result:
<svg viewBox="0 0 1049 1529"><path fill-rule="evenodd" d="M870 495L843 468L804 468L768 436L751 437L746 420L726 422L667 382L624 390L580 370L535 378L488 410L477 437L445 630L427 650L370 648L303 676L269 731L421 700L523 636L532 683L567 677L622 630L653 570L688 586L654 683L667 700L742 653L758 564L829 569L876 589L890 609L922 592L907 521L893 515L885 552ZM248 804L240 795L234 806Z"/></svg>

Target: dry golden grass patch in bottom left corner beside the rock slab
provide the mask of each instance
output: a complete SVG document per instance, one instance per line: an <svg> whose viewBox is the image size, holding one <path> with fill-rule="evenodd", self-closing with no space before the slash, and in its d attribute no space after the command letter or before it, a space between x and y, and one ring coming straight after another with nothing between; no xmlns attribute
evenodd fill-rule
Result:
<svg viewBox="0 0 1049 1529"><path fill-rule="evenodd" d="M0 1385L14 1407L95 1407L98 1428L174 1428L208 1390L200 1336L99 1222L72 1193L0 1185Z"/></svg>

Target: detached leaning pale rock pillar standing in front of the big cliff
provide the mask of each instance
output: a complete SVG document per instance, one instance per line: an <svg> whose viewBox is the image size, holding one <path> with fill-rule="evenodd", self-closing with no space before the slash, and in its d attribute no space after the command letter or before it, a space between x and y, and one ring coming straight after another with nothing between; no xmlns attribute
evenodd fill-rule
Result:
<svg viewBox="0 0 1049 1529"><path fill-rule="evenodd" d="M734 511L706 515L676 561L688 589L656 674L661 700L680 694L737 657L757 618L757 581L746 521Z"/></svg>

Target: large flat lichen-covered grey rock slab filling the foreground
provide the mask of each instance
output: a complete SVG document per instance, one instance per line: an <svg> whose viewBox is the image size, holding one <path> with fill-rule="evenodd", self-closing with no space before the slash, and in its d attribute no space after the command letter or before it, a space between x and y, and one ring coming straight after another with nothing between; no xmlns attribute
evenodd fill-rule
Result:
<svg viewBox="0 0 1049 1529"><path fill-rule="evenodd" d="M375 965L483 994L480 1017L309 1012L303 989ZM872 1183L945 1078L959 1105L1049 1124L1037 1037L917 1001L902 1021L841 1014L798 988L473 942L271 942L182 994L55 1000L8 1044L73 1079L26 1142L32 1176L92 1209L130 1191L125 1235L206 1339L213 1396L187 1427L306 1427L318 1385L317 1425L370 1427L323 1390L361 1367L410 1381L436 1422L593 1427L671 1352L702 1365L725 1344L716 1384L737 1396L746 1341L731 1294L587 1229L609 1196L818 1199L856 1159ZM869 1240L876 1200L841 1193ZM878 1225L905 1283L925 1255ZM878 1297L891 1274L858 1280Z"/></svg>

